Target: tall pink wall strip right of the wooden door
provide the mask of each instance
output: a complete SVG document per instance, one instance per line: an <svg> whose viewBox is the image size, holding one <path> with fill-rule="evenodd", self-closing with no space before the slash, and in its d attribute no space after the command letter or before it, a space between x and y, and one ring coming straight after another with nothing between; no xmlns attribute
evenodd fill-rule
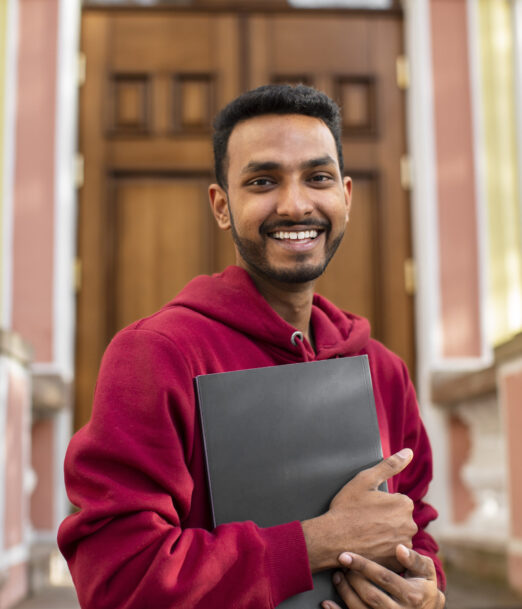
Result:
<svg viewBox="0 0 522 609"><path fill-rule="evenodd" d="M431 0L430 16L441 356L477 358L482 328L466 1Z"/></svg>

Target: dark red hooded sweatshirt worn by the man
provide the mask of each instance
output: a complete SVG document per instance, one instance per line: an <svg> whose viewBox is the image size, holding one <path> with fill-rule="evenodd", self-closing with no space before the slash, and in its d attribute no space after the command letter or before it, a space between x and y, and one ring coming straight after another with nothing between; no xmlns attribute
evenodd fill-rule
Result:
<svg viewBox="0 0 522 609"><path fill-rule="evenodd" d="M119 332L103 357L91 421L71 440L66 485L79 511L58 534L83 609L272 609L309 590L299 522L211 529L193 379L199 374L368 354L382 447L414 459L389 481L415 502L414 548L431 556L424 503L431 450L406 367L366 320L316 295L316 352L249 275L191 281L156 314Z"/></svg>

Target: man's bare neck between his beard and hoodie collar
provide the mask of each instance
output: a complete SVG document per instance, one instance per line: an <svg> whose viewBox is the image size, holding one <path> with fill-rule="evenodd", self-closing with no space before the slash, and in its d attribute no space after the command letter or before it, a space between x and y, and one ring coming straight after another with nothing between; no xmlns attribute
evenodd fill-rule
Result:
<svg viewBox="0 0 522 609"><path fill-rule="evenodd" d="M300 330L312 344L310 317L315 282L282 283L267 279L251 269L246 270L272 309L291 326Z"/></svg>

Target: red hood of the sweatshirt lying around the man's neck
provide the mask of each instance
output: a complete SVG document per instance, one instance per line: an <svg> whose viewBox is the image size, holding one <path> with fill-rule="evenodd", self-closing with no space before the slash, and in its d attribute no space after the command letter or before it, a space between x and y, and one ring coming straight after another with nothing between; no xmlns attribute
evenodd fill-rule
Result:
<svg viewBox="0 0 522 609"><path fill-rule="evenodd" d="M258 291L250 275L238 266L222 273L200 275L188 283L168 307L184 307L250 336L278 351L289 361L320 360L359 354L370 339L370 324L338 309L315 294L311 324L315 352L306 339L292 341L296 328L280 317Z"/></svg>

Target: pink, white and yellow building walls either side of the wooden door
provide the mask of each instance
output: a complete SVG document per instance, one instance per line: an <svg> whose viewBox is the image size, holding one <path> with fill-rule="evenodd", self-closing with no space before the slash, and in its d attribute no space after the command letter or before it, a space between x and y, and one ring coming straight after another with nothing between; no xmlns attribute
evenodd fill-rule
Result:
<svg viewBox="0 0 522 609"><path fill-rule="evenodd" d="M397 172L411 203L405 272L434 534L449 565L522 594L522 1L384 10L403 21L408 154ZM79 0L0 0L0 609L40 585L70 509L78 99L93 77L80 19Z"/></svg>

